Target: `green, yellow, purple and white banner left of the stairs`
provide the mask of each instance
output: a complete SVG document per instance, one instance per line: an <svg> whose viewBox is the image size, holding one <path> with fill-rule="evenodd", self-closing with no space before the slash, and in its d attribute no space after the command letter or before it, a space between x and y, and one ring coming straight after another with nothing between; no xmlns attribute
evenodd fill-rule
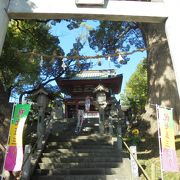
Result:
<svg viewBox="0 0 180 180"><path fill-rule="evenodd" d="M9 133L9 144L5 159L5 170L20 171L23 163L23 128L30 111L29 104L17 104L14 112Z"/></svg>

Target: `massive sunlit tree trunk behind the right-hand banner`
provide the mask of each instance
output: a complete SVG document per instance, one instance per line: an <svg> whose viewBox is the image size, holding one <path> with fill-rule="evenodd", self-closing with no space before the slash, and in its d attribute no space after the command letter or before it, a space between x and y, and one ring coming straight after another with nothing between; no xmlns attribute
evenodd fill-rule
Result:
<svg viewBox="0 0 180 180"><path fill-rule="evenodd" d="M157 131L155 104L173 108L175 133L179 130L180 99L177 90L164 24L143 24L148 49L149 100L143 118L150 122L149 133Z"/></svg>

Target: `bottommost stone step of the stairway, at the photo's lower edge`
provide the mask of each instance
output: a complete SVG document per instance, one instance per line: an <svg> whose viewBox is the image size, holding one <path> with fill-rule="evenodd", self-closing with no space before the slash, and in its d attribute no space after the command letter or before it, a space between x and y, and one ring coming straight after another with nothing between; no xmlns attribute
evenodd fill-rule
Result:
<svg viewBox="0 0 180 180"><path fill-rule="evenodd" d="M123 175L54 175L33 176L31 180L132 180Z"/></svg>

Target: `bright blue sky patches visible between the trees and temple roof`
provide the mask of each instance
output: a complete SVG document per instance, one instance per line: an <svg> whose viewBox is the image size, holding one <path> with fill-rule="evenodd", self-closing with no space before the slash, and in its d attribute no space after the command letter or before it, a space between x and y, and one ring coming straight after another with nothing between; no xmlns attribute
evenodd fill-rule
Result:
<svg viewBox="0 0 180 180"><path fill-rule="evenodd" d="M95 28L98 25L98 21L88 21L86 22L90 27ZM61 23L57 23L56 26L52 27L51 33L56 35L60 39L60 45L64 49L65 53L67 54L69 50L73 47L73 43L75 39L80 35L86 36L87 29L85 26L82 26L79 29L75 30L68 30L67 22L62 21ZM88 42L85 43L84 49L81 50L82 55L96 55L94 50L92 50ZM130 56L130 61L126 65L122 65L120 68L114 66L114 63L111 62L110 65L108 64L107 60L102 59L102 65L98 66L95 65L92 69L116 69L117 74L123 74L123 83L121 92L123 92L126 83L128 82L132 73L136 70L137 64L146 57L146 52L137 52ZM93 60L94 62L95 60ZM95 63L97 64L97 63ZM118 96L116 96L117 99Z"/></svg>

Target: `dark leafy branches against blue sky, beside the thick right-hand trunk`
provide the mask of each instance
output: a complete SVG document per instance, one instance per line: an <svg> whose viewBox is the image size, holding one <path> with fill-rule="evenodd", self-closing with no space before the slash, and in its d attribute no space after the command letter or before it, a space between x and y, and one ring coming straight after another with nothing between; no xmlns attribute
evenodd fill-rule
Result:
<svg viewBox="0 0 180 180"><path fill-rule="evenodd" d="M111 61L117 67L120 67L119 52L124 53L122 64L126 64L130 60L126 53L145 48L141 30L134 22L100 21L99 27L90 31L88 40L92 49L102 52L106 57L109 54L117 54L111 56Z"/></svg>

